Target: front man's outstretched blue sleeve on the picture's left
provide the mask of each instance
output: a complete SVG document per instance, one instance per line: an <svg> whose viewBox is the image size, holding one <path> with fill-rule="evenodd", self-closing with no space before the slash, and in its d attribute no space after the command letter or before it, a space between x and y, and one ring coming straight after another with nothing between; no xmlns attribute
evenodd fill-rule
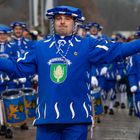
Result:
<svg viewBox="0 0 140 140"><path fill-rule="evenodd" d="M24 54L24 57L16 59L0 58L0 71L13 75L13 77L28 77L36 73L35 49Z"/></svg>

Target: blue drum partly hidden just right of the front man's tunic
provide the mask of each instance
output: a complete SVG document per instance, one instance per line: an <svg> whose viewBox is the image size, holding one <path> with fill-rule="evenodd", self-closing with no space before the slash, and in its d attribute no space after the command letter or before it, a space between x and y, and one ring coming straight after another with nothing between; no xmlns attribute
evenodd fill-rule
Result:
<svg viewBox="0 0 140 140"><path fill-rule="evenodd" d="M103 102L100 94L100 88L96 88L91 91L91 98L94 102L95 116L99 116L103 114L104 109L103 109Z"/></svg>

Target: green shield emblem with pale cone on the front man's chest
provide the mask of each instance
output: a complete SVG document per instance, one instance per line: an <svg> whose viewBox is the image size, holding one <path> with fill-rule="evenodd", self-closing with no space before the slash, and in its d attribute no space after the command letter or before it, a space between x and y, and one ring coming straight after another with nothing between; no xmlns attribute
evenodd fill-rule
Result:
<svg viewBox="0 0 140 140"><path fill-rule="evenodd" d="M50 68L50 78L54 83L63 83L67 77L67 65L65 63L53 63Z"/></svg>

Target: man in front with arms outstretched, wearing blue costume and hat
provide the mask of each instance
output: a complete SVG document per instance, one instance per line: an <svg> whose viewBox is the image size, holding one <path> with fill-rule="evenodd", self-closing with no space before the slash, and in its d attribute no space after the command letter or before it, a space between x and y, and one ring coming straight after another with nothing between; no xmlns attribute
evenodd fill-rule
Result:
<svg viewBox="0 0 140 140"><path fill-rule="evenodd" d="M15 77L38 73L37 140L86 140L92 123L91 65L139 52L140 40L105 43L76 36L75 23L83 21L83 16L75 7L57 6L46 15L52 21L52 35L38 41L24 59L0 58L0 70Z"/></svg>

